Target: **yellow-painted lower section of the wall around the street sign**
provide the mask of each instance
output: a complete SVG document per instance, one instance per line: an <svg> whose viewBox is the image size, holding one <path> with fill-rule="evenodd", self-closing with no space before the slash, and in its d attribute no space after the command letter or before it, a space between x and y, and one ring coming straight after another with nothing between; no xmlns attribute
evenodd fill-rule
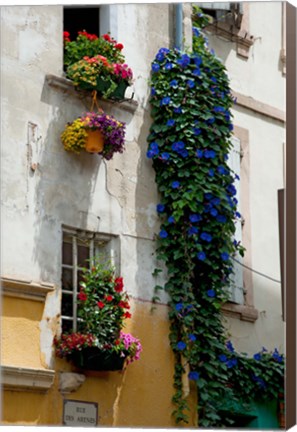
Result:
<svg viewBox="0 0 297 432"><path fill-rule="evenodd" d="M11 365L21 365L20 352L27 350L25 364L22 365L40 367L40 354L35 345L38 334L36 325L42 315L42 304L9 298L3 303L3 337L6 340L4 358L11 361ZM24 303L28 307L24 307ZM131 305L133 316L127 321L125 331L141 339L143 352L140 360L130 364L123 372L86 372L86 380L76 392L62 395L58 390L59 374L75 369L65 360L56 359L55 382L47 394L4 391L2 424L59 425L65 398L97 402L98 425L101 426L175 427L171 416L174 409L171 403L174 363L168 341L167 307L158 305L151 312L149 302L131 300ZM15 333L24 323L25 330L34 336L34 349L28 350L29 335L21 342L20 336L13 334L11 341L20 343L16 358L13 358L15 351L8 348L6 332ZM6 361L3 363L7 364ZM191 389L189 401L193 413L188 425L191 427L195 426L196 421L194 388Z"/></svg>

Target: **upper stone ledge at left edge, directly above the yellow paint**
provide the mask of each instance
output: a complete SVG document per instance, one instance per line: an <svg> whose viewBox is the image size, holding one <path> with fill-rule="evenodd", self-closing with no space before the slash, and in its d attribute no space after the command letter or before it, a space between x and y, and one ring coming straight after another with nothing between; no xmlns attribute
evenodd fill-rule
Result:
<svg viewBox="0 0 297 432"><path fill-rule="evenodd" d="M53 284L35 283L10 277L1 278L1 288L5 296L36 301L45 301L47 294L55 289Z"/></svg>

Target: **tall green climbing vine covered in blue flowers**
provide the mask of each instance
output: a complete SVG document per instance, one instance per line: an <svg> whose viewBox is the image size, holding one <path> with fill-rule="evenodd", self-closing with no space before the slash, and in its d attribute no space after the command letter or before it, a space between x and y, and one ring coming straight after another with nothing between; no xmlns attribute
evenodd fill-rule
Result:
<svg viewBox="0 0 297 432"><path fill-rule="evenodd" d="M205 20L196 15L193 51L161 48L152 63L147 157L161 197L157 257L168 269L173 414L187 423L187 374L198 389L199 426L218 427L232 423L235 405L248 409L255 398L277 397L284 359L265 348L253 358L236 353L224 328L233 257L244 248L234 240L238 176L228 166L234 100L201 31ZM224 400L232 402L227 414Z"/></svg>

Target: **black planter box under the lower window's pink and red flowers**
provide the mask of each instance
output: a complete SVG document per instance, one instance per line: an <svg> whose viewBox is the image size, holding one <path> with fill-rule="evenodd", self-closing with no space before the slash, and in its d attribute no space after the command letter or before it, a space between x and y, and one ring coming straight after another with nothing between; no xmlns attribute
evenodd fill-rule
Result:
<svg viewBox="0 0 297 432"><path fill-rule="evenodd" d="M126 356L114 351L102 351L97 347L83 348L71 354L72 363L85 370L119 371L124 367Z"/></svg>

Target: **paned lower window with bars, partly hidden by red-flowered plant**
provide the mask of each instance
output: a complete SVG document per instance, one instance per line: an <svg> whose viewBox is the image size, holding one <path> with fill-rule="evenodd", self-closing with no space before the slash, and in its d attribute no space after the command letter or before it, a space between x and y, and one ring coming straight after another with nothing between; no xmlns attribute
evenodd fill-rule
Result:
<svg viewBox="0 0 297 432"><path fill-rule="evenodd" d="M94 257L103 255L118 268L116 238L88 231L63 229L62 246L62 332L78 331L77 294L83 268L90 268Z"/></svg>

